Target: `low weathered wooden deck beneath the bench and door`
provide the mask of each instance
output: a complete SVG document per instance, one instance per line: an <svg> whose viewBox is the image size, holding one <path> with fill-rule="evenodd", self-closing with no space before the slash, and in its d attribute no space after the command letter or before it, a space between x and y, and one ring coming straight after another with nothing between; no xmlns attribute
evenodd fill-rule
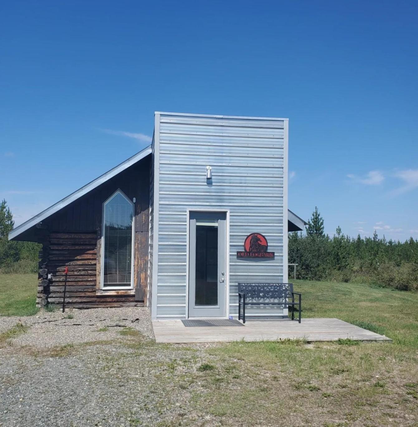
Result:
<svg viewBox="0 0 418 427"><path fill-rule="evenodd" d="M384 335L359 328L340 319L248 320L242 326L186 328L181 320L154 320L156 342L216 342L216 341L277 341L279 339L306 339L336 341L351 338L359 341L391 341Z"/></svg>

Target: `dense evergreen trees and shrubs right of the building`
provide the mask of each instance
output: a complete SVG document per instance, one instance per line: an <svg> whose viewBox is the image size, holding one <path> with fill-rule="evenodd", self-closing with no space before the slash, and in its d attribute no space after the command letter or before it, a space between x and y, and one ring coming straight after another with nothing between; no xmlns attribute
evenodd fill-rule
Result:
<svg viewBox="0 0 418 427"><path fill-rule="evenodd" d="M288 260L298 264L298 279L418 290L418 240L386 240L376 230L372 237L350 237L340 226L330 237L324 233L324 219L317 207L305 232L289 234Z"/></svg>

